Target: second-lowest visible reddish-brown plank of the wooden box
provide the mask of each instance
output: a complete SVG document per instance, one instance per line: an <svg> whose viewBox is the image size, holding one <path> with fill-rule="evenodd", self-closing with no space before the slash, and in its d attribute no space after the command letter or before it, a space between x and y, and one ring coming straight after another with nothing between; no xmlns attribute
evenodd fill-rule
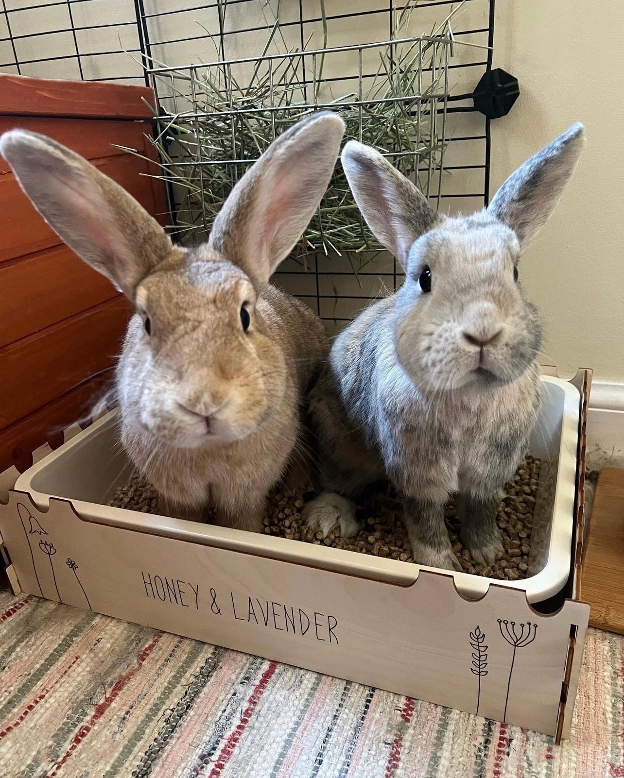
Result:
<svg viewBox="0 0 624 778"><path fill-rule="evenodd" d="M0 429L110 368L131 310L120 295L0 349Z"/></svg>

